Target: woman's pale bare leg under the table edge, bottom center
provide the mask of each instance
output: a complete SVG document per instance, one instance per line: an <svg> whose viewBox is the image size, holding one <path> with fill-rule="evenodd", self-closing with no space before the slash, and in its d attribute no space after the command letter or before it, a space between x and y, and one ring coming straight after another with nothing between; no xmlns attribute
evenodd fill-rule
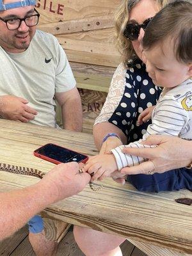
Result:
<svg viewBox="0 0 192 256"><path fill-rule="evenodd" d="M125 241L124 237L77 226L74 226L74 237L86 256L122 256L119 246Z"/></svg>

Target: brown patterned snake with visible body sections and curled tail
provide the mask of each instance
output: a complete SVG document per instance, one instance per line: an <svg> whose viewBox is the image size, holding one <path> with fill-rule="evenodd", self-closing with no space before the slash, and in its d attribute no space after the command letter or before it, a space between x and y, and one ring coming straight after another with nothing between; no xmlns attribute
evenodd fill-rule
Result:
<svg viewBox="0 0 192 256"><path fill-rule="evenodd" d="M28 175L28 176L34 176L37 178L42 179L45 175L44 172L41 172L40 170L33 169L33 168L28 168L24 166L15 166L12 164L5 164L5 163L0 163L0 170L4 172L11 172L11 173L17 173L21 175ZM79 168L79 173L83 172L83 167ZM102 186L93 184L93 182L90 182L90 188L93 191L99 191Z"/></svg>

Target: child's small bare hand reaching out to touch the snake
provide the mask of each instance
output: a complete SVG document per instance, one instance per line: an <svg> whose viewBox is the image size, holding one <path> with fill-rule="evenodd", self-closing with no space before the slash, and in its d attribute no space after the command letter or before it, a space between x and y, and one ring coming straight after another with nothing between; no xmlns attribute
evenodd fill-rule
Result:
<svg viewBox="0 0 192 256"><path fill-rule="evenodd" d="M99 154L90 157L84 165L84 171L93 174L93 180L102 180L110 177L111 173L117 170L116 160L113 154Z"/></svg>

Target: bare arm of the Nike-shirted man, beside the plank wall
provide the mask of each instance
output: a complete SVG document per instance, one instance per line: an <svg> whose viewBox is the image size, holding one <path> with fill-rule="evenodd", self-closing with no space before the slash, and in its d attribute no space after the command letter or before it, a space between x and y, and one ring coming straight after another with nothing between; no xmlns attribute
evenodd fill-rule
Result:
<svg viewBox="0 0 192 256"><path fill-rule="evenodd" d="M68 92L56 93L55 98L61 106L63 129L81 132L83 111L77 88L75 87Z"/></svg>

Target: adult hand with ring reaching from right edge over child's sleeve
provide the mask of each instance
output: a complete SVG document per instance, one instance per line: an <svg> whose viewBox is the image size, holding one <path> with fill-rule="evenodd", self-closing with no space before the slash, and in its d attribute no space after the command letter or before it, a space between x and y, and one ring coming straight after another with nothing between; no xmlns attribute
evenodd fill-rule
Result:
<svg viewBox="0 0 192 256"><path fill-rule="evenodd" d="M124 174L148 172L163 173L188 166L192 161L192 141L173 136L152 135L143 141L144 145L157 145L155 148L124 148L125 154L145 157L148 161L137 166L123 168Z"/></svg>

